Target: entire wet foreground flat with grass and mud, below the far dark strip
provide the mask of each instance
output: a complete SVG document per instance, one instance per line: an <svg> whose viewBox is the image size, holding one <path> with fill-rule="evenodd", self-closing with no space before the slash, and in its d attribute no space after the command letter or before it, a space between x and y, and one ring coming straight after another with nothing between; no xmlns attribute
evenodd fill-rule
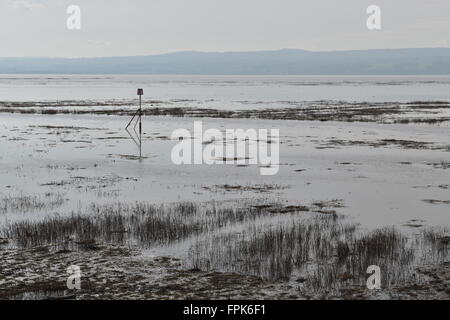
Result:
<svg viewBox="0 0 450 320"><path fill-rule="evenodd" d="M2 113L0 296L70 298L77 264L79 299L449 297L448 122L202 118L279 128L261 176L174 165L183 116L146 117L140 158L125 117Z"/></svg>

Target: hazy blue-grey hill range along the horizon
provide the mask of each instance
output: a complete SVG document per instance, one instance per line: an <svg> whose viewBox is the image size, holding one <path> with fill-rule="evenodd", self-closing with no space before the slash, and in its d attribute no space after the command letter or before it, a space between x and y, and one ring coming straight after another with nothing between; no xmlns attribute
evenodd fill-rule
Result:
<svg viewBox="0 0 450 320"><path fill-rule="evenodd" d="M183 51L102 58L0 58L0 73L204 75L448 75L450 48Z"/></svg>

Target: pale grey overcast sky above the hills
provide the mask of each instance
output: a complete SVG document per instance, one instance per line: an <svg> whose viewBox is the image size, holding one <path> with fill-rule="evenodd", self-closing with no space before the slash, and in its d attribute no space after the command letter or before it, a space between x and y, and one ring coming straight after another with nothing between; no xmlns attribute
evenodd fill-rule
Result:
<svg viewBox="0 0 450 320"><path fill-rule="evenodd" d="M66 27L69 5L81 30ZM450 0L0 0L1 57L410 47L450 47Z"/></svg>

